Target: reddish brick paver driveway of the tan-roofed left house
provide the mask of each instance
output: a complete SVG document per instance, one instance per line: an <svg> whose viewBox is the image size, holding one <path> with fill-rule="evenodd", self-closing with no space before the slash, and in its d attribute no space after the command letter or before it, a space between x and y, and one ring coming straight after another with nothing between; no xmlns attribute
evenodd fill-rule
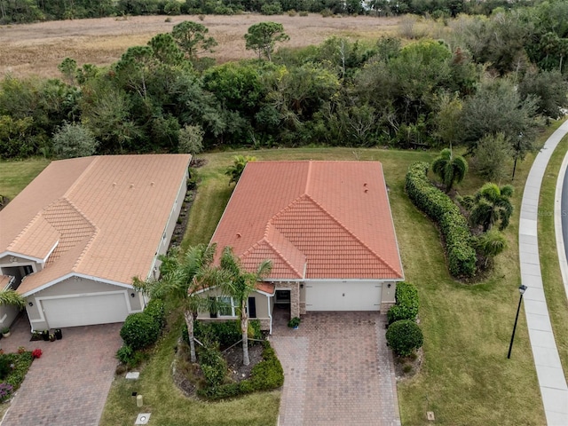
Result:
<svg viewBox="0 0 568 426"><path fill-rule="evenodd" d="M40 348L2 426L96 426L114 379L114 353L122 344L122 324L63 328L63 339L30 342L28 319L0 341L6 352L23 345Z"/></svg>

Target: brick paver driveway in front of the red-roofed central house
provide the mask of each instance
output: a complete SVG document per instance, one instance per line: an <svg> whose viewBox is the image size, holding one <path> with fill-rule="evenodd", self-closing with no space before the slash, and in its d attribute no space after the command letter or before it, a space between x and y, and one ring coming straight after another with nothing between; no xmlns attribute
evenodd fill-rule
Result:
<svg viewBox="0 0 568 426"><path fill-rule="evenodd" d="M280 426L399 425L385 322L376 312L312 312L297 330L277 325Z"/></svg>

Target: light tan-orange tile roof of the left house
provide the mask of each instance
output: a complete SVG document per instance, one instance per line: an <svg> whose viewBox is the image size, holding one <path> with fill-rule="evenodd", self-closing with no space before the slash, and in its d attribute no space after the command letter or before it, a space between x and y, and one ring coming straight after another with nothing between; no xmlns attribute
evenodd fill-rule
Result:
<svg viewBox="0 0 568 426"><path fill-rule="evenodd" d="M113 155L51 162L0 211L0 253L44 258L25 294L71 272L130 285L146 278L191 156Z"/></svg>

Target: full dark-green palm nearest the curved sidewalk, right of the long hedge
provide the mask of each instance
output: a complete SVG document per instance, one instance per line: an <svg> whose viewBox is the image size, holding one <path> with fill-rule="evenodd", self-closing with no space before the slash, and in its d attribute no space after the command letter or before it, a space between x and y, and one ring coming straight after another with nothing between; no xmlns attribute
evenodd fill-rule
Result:
<svg viewBox="0 0 568 426"><path fill-rule="evenodd" d="M503 231L509 226L509 218L513 214L513 205L510 198L513 196L513 186L504 185L501 188L495 184L487 183L481 187L473 197L464 197L461 204L469 209L471 225L483 226L487 232L493 225L499 223L499 230Z"/></svg>

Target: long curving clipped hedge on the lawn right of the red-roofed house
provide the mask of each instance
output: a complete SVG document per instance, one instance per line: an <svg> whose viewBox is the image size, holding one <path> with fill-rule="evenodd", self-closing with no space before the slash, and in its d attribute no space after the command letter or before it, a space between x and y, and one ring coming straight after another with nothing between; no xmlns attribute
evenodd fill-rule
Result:
<svg viewBox="0 0 568 426"><path fill-rule="evenodd" d="M476 250L472 246L468 222L458 206L430 184L427 162L411 164L406 173L406 193L414 205L437 222L444 240L448 269L454 277L472 277L476 273Z"/></svg>

